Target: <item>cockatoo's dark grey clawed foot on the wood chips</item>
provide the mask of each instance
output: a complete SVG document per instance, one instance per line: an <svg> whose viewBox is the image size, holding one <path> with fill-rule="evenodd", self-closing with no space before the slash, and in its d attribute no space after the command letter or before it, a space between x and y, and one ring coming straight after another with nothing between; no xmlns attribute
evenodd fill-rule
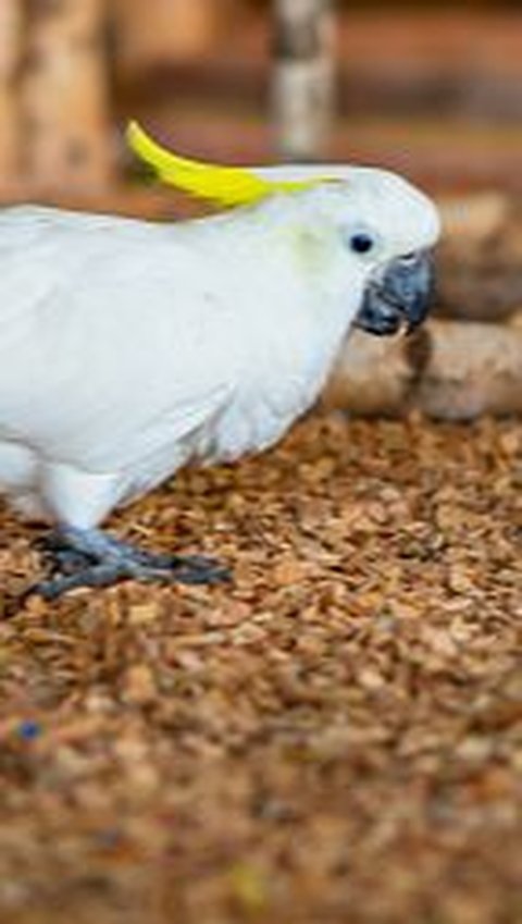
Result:
<svg viewBox="0 0 522 924"><path fill-rule="evenodd" d="M107 587L125 578L211 584L229 578L223 565L200 555L167 555L136 549L98 529L60 527L40 541L50 577L32 590L53 600L79 587Z"/></svg>

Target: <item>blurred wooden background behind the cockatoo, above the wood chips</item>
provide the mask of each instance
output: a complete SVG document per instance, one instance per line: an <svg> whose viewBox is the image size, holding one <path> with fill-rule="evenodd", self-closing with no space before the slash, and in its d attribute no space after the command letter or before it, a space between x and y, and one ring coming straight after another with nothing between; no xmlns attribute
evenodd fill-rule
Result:
<svg viewBox="0 0 522 924"><path fill-rule="evenodd" d="M406 345L350 337L334 403L522 411L521 49L498 0L0 0L0 201L201 211L129 153L130 119L223 163L396 170L443 213L437 304Z"/></svg>

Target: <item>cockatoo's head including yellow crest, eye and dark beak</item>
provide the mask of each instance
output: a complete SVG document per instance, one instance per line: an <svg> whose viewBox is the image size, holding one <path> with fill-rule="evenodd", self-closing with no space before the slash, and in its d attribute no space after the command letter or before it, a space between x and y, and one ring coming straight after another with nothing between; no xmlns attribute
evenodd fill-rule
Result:
<svg viewBox="0 0 522 924"><path fill-rule="evenodd" d="M349 281L351 295L358 291L357 327L386 335L414 330L426 317L440 222L431 199L401 176L330 164L203 163L165 150L136 123L127 140L162 181L192 196L228 208L277 204L291 213L304 259L327 250L336 276Z"/></svg>

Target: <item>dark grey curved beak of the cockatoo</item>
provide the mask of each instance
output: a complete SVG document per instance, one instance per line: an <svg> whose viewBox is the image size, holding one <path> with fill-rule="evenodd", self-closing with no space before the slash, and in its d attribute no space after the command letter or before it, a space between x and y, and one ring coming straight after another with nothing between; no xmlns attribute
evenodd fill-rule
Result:
<svg viewBox="0 0 522 924"><path fill-rule="evenodd" d="M370 280L356 327L377 336L395 334L402 327L410 333L425 320L432 294L431 252L399 257Z"/></svg>

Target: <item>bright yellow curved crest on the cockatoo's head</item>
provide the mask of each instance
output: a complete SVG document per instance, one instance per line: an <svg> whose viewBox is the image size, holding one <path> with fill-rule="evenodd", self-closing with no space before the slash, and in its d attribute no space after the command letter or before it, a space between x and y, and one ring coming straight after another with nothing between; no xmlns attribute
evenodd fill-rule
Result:
<svg viewBox="0 0 522 924"><path fill-rule="evenodd" d="M163 183L220 206L252 205L273 196L274 193L310 189L324 182L318 177L270 181L245 167L220 167L179 157L161 147L137 122L130 122L128 125L127 143L135 155L151 167Z"/></svg>

